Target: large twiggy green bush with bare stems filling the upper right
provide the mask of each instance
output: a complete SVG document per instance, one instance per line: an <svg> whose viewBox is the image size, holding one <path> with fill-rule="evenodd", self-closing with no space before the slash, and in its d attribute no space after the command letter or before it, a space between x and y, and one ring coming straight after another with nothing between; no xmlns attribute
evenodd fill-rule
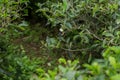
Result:
<svg viewBox="0 0 120 80"><path fill-rule="evenodd" d="M46 24L52 29L58 28L59 48L98 56L105 47L120 44L119 3L119 0L47 0L37 4L36 12L46 17Z"/></svg>

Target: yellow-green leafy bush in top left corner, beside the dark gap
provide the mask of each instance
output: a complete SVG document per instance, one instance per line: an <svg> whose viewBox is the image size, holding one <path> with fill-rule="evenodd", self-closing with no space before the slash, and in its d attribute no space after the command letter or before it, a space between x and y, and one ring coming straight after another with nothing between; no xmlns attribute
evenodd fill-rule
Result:
<svg viewBox="0 0 120 80"><path fill-rule="evenodd" d="M26 23L22 21L22 16L27 14L24 11L28 2L29 0L0 0L0 33L16 37L25 31Z"/></svg>

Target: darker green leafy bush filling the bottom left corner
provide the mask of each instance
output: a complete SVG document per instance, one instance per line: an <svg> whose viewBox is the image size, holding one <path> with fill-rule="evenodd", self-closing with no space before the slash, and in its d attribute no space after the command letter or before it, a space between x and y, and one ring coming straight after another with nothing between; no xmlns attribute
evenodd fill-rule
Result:
<svg viewBox="0 0 120 80"><path fill-rule="evenodd" d="M38 68L37 59L30 60L22 46L12 45L4 37L0 37L0 64L2 80L29 80Z"/></svg>

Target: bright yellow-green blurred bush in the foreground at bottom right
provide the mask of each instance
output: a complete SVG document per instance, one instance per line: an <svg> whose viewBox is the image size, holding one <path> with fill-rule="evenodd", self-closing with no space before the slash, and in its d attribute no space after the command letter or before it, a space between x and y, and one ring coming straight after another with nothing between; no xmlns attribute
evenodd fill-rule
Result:
<svg viewBox="0 0 120 80"><path fill-rule="evenodd" d="M120 78L120 47L109 47L104 53L104 59L97 59L92 64L79 66L78 60L59 59L60 65L55 70L48 70L36 80L119 80Z"/></svg>

